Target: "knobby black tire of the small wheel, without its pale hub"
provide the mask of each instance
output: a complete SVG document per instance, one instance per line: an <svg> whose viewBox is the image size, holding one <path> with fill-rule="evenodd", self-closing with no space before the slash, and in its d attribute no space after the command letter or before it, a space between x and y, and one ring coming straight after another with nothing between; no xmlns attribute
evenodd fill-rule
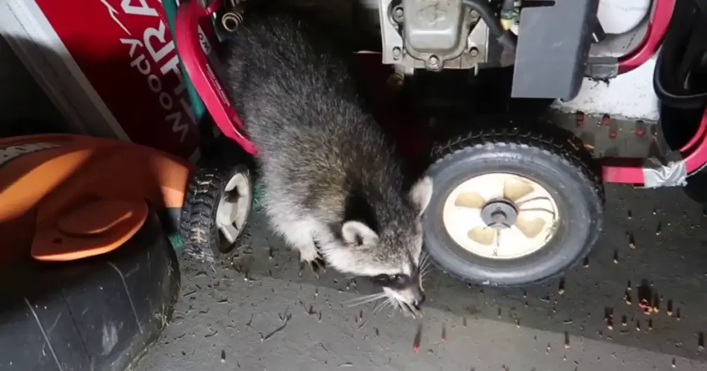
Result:
<svg viewBox="0 0 707 371"><path fill-rule="evenodd" d="M216 226L218 203L228 180L237 172L246 175L252 192L251 172L245 164L228 166L209 161L197 165L197 170L187 186L180 216L180 236L185 252L190 256L214 261L216 257L230 252L237 245L235 242L225 244ZM236 241L243 237L251 211L252 202L248 205L248 214Z"/></svg>

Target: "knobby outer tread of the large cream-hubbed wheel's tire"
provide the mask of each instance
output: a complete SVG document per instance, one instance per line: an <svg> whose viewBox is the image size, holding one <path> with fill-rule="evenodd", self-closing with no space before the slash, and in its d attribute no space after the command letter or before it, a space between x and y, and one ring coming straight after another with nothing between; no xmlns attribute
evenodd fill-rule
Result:
<svg viewBox="0 0 707 371"><path fill-rule="evenodd" d="M438 143L436 146L433 146L431 151L432 166L442 162L450 155L457 155L465 151L475 151L484 147L525 148L528 151L528 155L531 156L534 154L551 156L551 158L554 158L556 163L575 169L579 177L585 179L588 184L593 185L593 198L597 199L600 212L603 211L604 203L606 201L604 186L600 176L600 171L592 166L593 162L591 155L584 151L583 144L575 138L561 134L554 134L551 133L550 130L544 131L542 129L526 129L522 127L494 127L490 129L478 129L471 131L467 134L455 136L444 143ZM596 232L592 235L592 240L586 244L585 251L583 251L583 253L571 263L571 265L566 267L566 270L572 269L574 266L579 264L579 262L583 261L583 259L585 259L591 252L592 247L596 244L600 236L600 232L602 231L602 224L603 218L600 216L597 221ZM478 283L477 281L472 281L455 273L446 271L444 267L440 266L435 259L430 260L433 261L433 264L435 264L438 269L448 273L450 276L453 276L460 281ZM563 276L566 270L559 271L552 276L547 276L532 282L517 285L502 284L498 286L513 288L544 283L559 276Z"/></svg>

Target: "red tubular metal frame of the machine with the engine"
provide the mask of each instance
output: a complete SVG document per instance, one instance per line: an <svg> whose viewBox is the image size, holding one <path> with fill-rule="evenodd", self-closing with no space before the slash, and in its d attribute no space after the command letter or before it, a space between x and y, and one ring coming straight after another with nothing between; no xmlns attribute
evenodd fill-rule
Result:
<svg viewBox="0 0 707 371"><path fill-rule="evenodd" d="M636 69L658 51L667 25L670 23L675 1L653 1L652 19L648 23L646 34L636 49L619 58L619 73ZM245 151L257 155L255 145L243 134L243 122L230 104L225 91L216 78L216 73L211 69L209 60L199 45L199 35L197 34L199 20L212 16L221 3L221 0L216 0L204 8L197 0L182 1L177 9L175 42L182 57L182 64L189 73L189 77L192 78L194 88L204 100L204 105L209 110L211 117L214 118L218 128L223 134L242 146ZM402 138L406 139L406 136ZM415 136L408 136L407 139L415 140L414 138ZM707 110L703 114L696 134L679 152L684 158L688 174L699 170L707 163ZM643 160L604 158L602 159L602 175L604 182L644 184Z"/></svg>

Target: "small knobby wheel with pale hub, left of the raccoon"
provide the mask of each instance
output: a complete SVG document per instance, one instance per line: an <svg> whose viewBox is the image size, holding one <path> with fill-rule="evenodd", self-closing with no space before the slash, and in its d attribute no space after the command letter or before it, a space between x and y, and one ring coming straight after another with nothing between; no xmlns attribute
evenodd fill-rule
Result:
<svg viewBox="0 0 707 371"><path fill-rule="evenodd" d="M252 199L252 181L246 165L198 166L187 187L180 216L185 252L208 261L230 252L243 236Z"/></svg>

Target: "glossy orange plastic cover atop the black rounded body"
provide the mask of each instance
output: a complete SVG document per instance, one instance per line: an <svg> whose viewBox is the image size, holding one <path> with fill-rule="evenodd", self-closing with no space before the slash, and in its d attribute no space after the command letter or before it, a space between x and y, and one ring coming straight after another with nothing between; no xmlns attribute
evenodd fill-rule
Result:
<svg viewBox="0 0 707 371"><path fill-rule="evenodd" d="M115 249L139 229L148 204L182 206L192 170L172 155L109 139L0 139L0 264L18 251L27 256L30 247L45 260ZM56 233L64 235L62 246L46 245ZM95 251L88 252L90 245Z"/></svg>

